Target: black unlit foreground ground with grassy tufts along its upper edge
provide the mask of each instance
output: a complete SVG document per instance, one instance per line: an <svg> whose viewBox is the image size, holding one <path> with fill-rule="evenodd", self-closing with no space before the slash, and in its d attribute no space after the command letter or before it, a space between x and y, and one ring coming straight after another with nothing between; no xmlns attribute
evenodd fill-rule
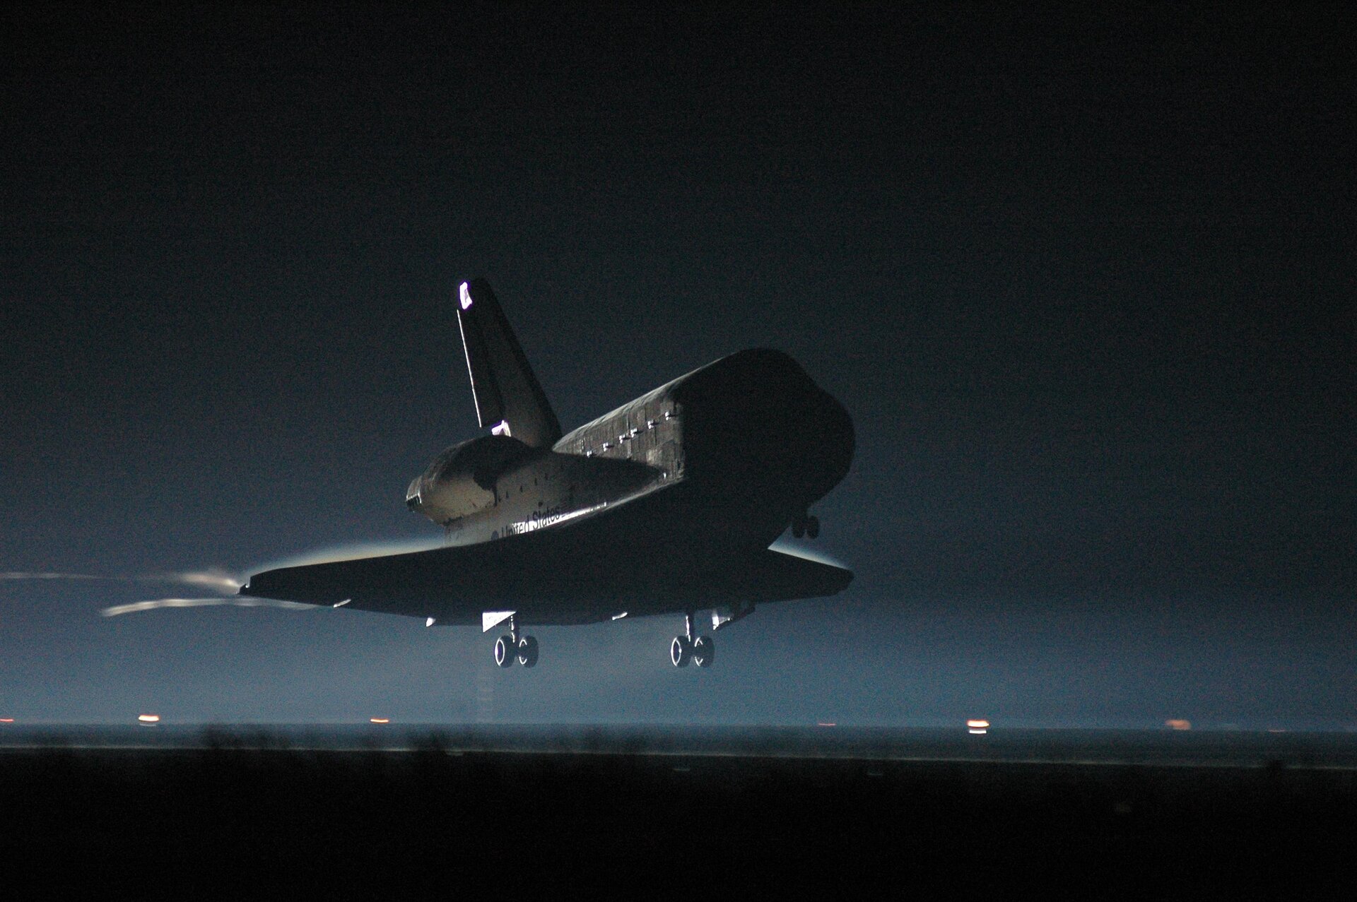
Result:
<svg viewBox="0 0 1357 902"><path fill-rule="evenodd" d="M1357 772L1314 760L474 745L434 732L404 750L263 734L194 749L11 746L0 860L56 884L94 875L193 895L1342 898L1357 812Z"/></svg>

